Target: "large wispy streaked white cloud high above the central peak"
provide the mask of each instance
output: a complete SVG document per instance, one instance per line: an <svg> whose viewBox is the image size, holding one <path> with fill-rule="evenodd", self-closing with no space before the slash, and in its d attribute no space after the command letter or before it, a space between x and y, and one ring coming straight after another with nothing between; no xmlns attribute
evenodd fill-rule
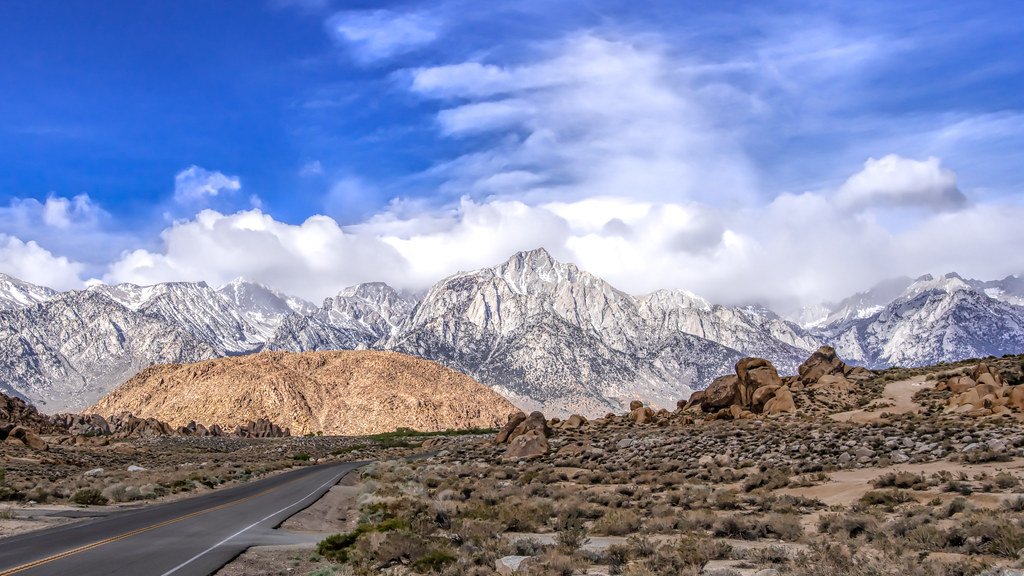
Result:
<svg viewBox="0 0 1024 576"><path fill-rule="evenodd" d="M593 196L726 203L754 194L753 165L731 117L720 122L720 99L657 45L580 35L532 64L410 74L413 92L445 107L437 114L443 134L498 136L429 172L456 198L492 192L494 179L510 173L530 177L496 192L529 203Z"/></svg>

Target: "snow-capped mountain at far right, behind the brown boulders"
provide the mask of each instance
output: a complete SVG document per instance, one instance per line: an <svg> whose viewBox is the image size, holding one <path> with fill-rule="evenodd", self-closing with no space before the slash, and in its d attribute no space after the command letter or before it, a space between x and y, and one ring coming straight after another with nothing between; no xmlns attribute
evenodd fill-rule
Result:
<svg viewBox="0 0 1024 576"><path fill-rule="evenodd" d="M820 337L869 368L1024 352L1024 307L956 274L923 276L878 312L823 326Z"/></svg>

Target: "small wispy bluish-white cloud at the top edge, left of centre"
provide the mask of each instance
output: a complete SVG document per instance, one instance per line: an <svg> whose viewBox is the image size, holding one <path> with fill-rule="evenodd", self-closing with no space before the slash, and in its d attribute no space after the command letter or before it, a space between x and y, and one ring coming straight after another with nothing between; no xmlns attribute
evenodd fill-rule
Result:
<svg viewBox="0 0 1024 576"><path fill-rule="evenodd" d="M416 50L437 39L441 20L426 12L348 10L328 20L335 38L369 64Z"/></svg>

